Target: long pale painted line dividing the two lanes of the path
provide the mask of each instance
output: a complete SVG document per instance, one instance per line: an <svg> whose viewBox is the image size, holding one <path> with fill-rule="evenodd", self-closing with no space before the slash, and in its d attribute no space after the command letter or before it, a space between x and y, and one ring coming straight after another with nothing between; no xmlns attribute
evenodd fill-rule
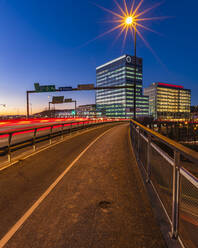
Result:
<svg viewBox="0 0 198 248"><path fill-rule="evenodd" d="M113 127L115 128L115 127ZM66 170L49 186L49 188L41 195L41 197L32 205L31 208L16 222L14 226L5 234L5 236L0 240L0 248L3 248L7 242L12 238L12 236L18 231L18 229L23 225L23 223L31 216L35 209L42 203L42 201L49 195L49 193L55 188L55 186L61 181L61 179L69 172L69 170L74 166L74 164L85 154L85 152L96 143L102 136L104 136L111 129L108 129L101 135L99 135L94 141L92 141L73 162L66 168Z"/></svg>

